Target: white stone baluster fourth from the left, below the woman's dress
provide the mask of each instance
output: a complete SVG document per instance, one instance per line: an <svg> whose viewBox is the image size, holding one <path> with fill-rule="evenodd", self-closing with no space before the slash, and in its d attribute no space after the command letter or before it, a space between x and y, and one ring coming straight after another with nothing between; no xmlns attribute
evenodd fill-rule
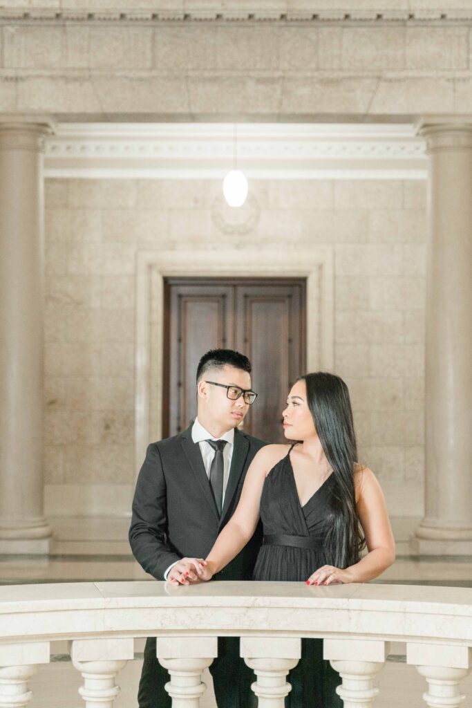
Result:
<svg viewBox="0 0 472 708"><path fill-rule="evenodd" d="M285 696L292 690L287 683L287 673L299 663L301 640L244 636L240 653L255 672L252 689L258 697L258 708L284 708Z"/></svg>

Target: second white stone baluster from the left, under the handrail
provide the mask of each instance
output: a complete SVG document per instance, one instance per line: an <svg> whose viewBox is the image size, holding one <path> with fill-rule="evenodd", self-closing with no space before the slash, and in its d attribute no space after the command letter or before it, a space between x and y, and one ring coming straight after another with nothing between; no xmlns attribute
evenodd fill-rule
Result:
<svg viewBox="0 0 472 708"><path fill-rule="evenodd" d="M120 692L115 678L134 657L133 639L76 639L69 643L69 652L84 678L79 693L86 708L113 708Z"/></svg>

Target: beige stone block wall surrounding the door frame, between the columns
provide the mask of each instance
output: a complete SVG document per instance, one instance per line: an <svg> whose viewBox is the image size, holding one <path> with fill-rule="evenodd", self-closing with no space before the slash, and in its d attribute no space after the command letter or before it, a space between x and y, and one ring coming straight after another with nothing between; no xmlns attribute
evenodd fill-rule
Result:
<svg viewBox="0 0 472 708"><path fill-rule="evenodd" d="M393 515L422 513L423 181L254 181L248 234L212 218L213 181L46 181L46 511L125 513L134 484L137 251L328 244L335 371L361 459ZM281 273L282 275L282 273Z"/></svg>

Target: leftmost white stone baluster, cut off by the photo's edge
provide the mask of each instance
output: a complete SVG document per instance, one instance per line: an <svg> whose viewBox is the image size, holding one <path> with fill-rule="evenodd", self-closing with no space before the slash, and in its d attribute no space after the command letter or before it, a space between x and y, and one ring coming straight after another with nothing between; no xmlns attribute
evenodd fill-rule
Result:
<svg viewBox="0 0 472 708"><path fill-rule="evenodd" d="M33 698L29 680L49 663L49 641L0 645L0 708L23 708Z"/></svg>

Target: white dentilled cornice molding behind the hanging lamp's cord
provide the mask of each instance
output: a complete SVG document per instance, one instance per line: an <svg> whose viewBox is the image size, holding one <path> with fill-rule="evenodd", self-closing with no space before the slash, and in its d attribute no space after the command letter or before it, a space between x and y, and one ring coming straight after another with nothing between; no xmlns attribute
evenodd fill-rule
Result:
<svg viewBox="0 0 472 708"><path fill-rule="evenodd" d="M238 125L238 166L251 178L425 178L425 142L410 125ZM48 177L220 178L233 125L59 124Z"/></svg>

